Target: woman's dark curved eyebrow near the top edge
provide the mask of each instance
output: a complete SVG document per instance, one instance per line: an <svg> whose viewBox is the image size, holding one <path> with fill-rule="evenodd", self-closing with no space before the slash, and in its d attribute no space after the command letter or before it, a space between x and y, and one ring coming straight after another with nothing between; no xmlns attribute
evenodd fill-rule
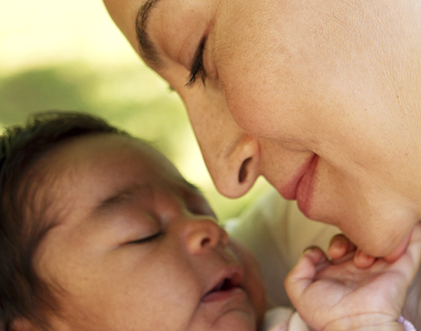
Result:
<svg viewBox="0 0 421 331"><path fill-rule="evenodd" d="M147 19L154 9L156 3L159 0L147 0L136 16L136 37L139 43L139 52L142 58L150 66L159 67L161 66L161 60L159 59L158 52L156 51L154 43L152 43L147 32Z"/></svg>

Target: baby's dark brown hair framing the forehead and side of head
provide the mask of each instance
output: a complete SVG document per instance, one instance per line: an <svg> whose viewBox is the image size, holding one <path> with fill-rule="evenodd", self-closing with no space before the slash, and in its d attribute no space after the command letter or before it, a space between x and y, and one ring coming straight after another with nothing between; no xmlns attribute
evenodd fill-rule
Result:
<svg viewBox="0 0 421 331"><path fill-rule="evenodd" d="M34 252L49 229L27 212L31 208L28 204L32 166L64 141L105 133L126 135L92 115L48 111L32 115L26 125L9 127L1 134L0 331L13 330L17 319L48 330L44 310L54 311L55 307L51 290L36 275L32 263Z"/></svg>

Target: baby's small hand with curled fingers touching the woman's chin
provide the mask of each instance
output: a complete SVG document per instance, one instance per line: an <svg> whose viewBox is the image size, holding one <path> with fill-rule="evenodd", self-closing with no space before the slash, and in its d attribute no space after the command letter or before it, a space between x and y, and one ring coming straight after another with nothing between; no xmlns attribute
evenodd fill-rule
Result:
<svg viewBox="0 0 421 331"><path fill-rule="evenodd" d="M285 281L291 302L315 330L404 330L397 320L420 265L420 232L418 224L399 260L374 259L365 269L354 264L355 248L347 240L342 253L330 249L340 260L328 260L319 248L307 250Z"/></svg>

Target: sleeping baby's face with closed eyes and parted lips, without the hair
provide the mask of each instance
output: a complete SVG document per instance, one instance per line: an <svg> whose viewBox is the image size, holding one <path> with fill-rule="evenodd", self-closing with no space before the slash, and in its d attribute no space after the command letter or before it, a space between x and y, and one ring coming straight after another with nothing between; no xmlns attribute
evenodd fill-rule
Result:
<svg viewBox="0 0 421 331"><path fill-rule="evenodd" d="M39 197L53 202L46 215L56 216L36 255L60 305L54 330L257 328L257 263L162 155L106 134L71 141L36 167Z"/></svg>

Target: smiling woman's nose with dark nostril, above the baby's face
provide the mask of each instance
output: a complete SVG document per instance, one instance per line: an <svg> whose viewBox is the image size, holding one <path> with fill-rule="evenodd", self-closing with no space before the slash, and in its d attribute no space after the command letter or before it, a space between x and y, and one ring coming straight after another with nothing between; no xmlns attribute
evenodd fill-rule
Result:
<svg viewBox="0 0 421 331"><path fill-rule="evenodd" d="M189 99L187 111L209 174L222 195L241 197L260 175L258 140L236 124L225 99L209 103L195 98Z"/></svg>

